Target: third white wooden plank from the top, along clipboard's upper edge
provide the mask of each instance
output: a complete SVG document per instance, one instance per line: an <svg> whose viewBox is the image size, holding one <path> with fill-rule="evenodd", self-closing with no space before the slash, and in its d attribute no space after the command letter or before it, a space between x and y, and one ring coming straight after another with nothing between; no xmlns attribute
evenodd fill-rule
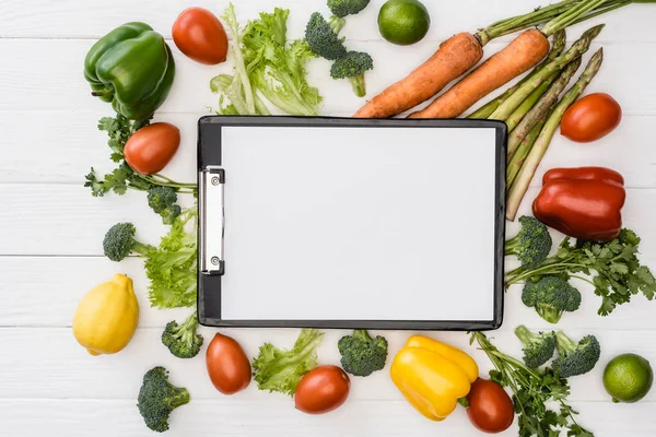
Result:
<svg viewBox="0 0 656 437"><path fill-rule="evenodd" d="M104 113L54 111L7 113L0 117L5 132L0 162L0 182L80 184L93 166L110 170L106 134L95 129ZM168 121L181 130L181 144L165 173L180 181L196 178L196 125L203 113L159 114L156 121ZM34 118L38 129L34 129ZM75 122L71 122L71 120ZM557 134L538 169L532 185L540 186L544 170L559 166L600 165L617 169L632 188L656 187L656 149L644 132L656 123L654 116L625 116L620 127L594 144L578 144ZM640 156L640 160L635 157Z"/></svg>

